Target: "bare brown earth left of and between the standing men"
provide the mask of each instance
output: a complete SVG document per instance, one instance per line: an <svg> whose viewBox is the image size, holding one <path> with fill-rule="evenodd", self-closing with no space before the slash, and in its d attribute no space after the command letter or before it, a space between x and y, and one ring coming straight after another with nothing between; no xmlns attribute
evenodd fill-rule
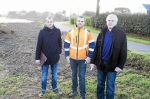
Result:
<svg viewBox="0 0 150 99"><path fill-rule="evenodd" d="M0 71L0 78L7 74L14 76L23 74L27 75L29 80L20 88L25 93L23 96L11 94L1 98L0 95L0 99L39 99L41 71L34 60L39 24L11 23L3 29L8 32L0 32L0 65L5 65L6 70ZM11 30L14 33L10 32ZM71 69L68 67L63 51L59 61L58 77L63 76L64 81L71 80ZM89 66L87 67L87 76L96 75L95 71L91 72Z"/></svg>

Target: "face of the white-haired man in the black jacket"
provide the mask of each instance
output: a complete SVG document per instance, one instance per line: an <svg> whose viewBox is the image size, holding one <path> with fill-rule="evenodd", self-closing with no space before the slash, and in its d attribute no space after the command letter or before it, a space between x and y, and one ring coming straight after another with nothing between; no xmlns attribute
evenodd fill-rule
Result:
<svg viewBox="0 0 150 99"><path fill-rule="evenodd" d="M106 23L107 23L108 29L112 29L115 25L117 25L116 17L108 16Z"/></svg>

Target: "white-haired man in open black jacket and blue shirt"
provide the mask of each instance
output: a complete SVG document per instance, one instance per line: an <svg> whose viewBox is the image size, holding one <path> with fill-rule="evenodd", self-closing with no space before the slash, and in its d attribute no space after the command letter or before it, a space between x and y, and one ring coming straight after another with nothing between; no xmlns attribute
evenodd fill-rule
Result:
<svg viewBox="0 0 150 99"><path fill-rule="evenodd" d="M98 69L98 99L105 99L105 81L106 99L114 99L116 75L122 71L127 58L126 34L116 26L117 21L116 15L109 14L107 16L107 25L97 37L96 47L91 58L91 68L96 65Z"/></svg>

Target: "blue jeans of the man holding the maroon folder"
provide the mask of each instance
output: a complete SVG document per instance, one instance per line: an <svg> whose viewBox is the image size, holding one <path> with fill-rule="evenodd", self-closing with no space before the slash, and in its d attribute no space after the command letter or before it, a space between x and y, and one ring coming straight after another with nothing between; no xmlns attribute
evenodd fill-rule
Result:
<svg viewBox="0 0 150 99"><path fill-rule="evenodd" d="M43 65L41 69L42 69L41 89L42 92L45 92L47 87L47 76L48 76L49 65ZM57 69L58 69L58 63L55 63L51 66L51 77L52 77L51 85L53 90L57 89Z"/></svg>

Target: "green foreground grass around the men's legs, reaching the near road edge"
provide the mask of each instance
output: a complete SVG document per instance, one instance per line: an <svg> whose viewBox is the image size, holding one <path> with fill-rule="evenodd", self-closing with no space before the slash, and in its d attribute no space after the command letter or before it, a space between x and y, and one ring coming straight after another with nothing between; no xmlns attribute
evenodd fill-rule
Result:
<svg viewBox="0 0 150 99"><path fill-rule="evenodd" d="M145 69L133 68L137 66L137 61L134 61L133 57L139 57L141 60L139 64L140 67L146 67ZM126 65L124 70L117 75L116 78L116 90L115 99L149 99L150 97L150 54L136 53L132 50L128 50L128 61L132 61L131 66ZM62 96L58 96L51 90L48 90L44 95L43 99L68 99L68 94L71 92L71 78L63 79L60 77L58 80L59 89L64 93ZM96 98L96 86L97 77L87 76L86 77L86 98L87 99L97 99ZM79 99L79 93L73 99Z"/></svg>

